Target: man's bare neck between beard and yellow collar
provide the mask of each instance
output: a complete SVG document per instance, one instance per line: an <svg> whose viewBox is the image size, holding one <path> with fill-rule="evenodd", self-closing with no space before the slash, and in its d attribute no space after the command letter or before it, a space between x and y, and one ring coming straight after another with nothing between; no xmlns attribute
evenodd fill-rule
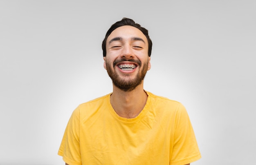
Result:
<svg viewBox="0 0 256 165"><path fill-rule="evenodd" d="M122 91L113 85L110 103L116 113L124 118L135 118L146 105L148 95L143 89L143 83L132 91Z"/></svg>

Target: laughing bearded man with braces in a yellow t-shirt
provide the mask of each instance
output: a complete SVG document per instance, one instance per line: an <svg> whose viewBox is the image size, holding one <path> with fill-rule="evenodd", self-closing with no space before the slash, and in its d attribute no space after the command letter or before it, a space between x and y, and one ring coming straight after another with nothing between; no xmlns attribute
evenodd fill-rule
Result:
<svg viewBox="0 0 256 165"><path fill-rule="evenodd" d="M151 48L133 20L110 27L102 49L113 92L72 113L58 152L66 165L186 165L201 157L183 105L143 88Z"/></svg>

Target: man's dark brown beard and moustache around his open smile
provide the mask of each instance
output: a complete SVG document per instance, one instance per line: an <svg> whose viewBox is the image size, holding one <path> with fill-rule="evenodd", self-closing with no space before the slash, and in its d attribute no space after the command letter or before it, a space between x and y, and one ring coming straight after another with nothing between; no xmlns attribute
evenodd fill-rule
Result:
<svg viewBox="0 0 256 165"><path fill-rule="evenodd" d="M129 77L130 75L125 75L125 78L121 78L113 68L115 68L118 62L122 62L122 61L136 62L138 66L141 68L141 71L139 71L139 73L136 75L135 78L130 78ZM126 60L126 59L115 60L113 62L113 65L111 65L109 62L106 61L106 69L108 72L108 76L110 76L110 78L112 79L112 83L122 91L132 91L142 83L148 71L148 62L145 62L143 67L141 66L142 66L141 61L139 60Z"/></svg>

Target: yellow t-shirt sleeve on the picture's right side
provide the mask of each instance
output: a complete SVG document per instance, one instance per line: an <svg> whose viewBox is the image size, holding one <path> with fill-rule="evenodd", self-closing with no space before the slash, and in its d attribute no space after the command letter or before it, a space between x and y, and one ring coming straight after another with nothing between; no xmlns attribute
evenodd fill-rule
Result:
<svg viewBox="0 0 256 165"><path fill-rule="evenodd" d="M201 158L193 127L185 107L180 104L175 117L175 132L170 165L185 165Z"/></svg>

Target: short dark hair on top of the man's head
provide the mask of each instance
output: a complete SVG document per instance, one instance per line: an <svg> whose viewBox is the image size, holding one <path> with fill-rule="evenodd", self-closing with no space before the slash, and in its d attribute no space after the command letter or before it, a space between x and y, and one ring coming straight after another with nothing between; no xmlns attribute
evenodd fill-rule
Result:
<svg viewBox="0 0 256 165"><path fill-rule="evenodd" d="M106 41L108 36L110 35L110 33L112 33L112 31L114 31L115 29L117 29L118 27L121 26L125 26L125 25L129 25L129 26L133 26L136 27L137 29L139 29L147 38L148 40L148 56L151 56L151 50L152 50L152 41L148 36L148 30L145 29L144 27L141 27L139 24L135 23L134 20L129 19L129 18L123 18L121 21L117 21L115 24L113 24L107 31L106 36L102 42L102 50L103 50L103 57L106 56L107 52L106 52Z"/></svg>

